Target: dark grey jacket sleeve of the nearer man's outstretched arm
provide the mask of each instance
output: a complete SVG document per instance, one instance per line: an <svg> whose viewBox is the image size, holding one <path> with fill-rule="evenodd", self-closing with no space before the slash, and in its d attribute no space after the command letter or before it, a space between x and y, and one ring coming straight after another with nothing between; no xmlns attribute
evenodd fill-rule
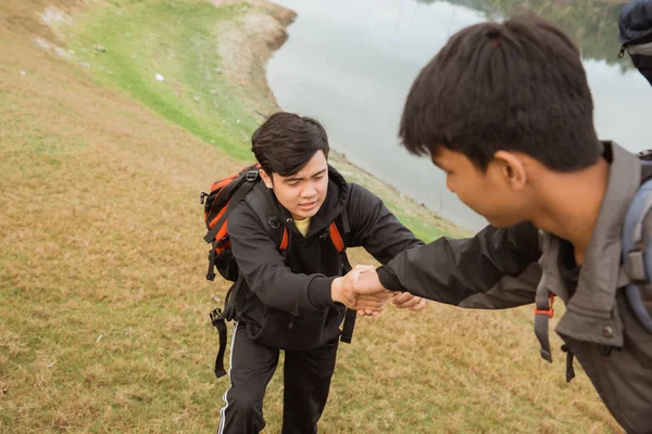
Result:
<svg viewBox="0 0 652 434"><path fill-rule="evenodd" d="M378 268L378 277L389 290L452 305L480 293L482 296L471 299L465 307L531 303L540 273L536 265L541 255L538 239L538 230L527 222L510 228L488 226L473 238L441 238L403 252ZM524 275L532 263L531 270ZM513 279L503 280L505 277ZM516 289L525 292L516 294Z"/></svg>

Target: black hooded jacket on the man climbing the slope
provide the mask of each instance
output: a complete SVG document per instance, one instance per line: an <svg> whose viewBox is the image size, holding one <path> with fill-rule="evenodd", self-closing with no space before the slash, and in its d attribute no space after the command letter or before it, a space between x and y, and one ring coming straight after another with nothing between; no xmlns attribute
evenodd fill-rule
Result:
<svg viewBox="0 0 652 434"><path fill-rule="evenodd" d="M333 221L347 247L362 246L383 264L423 244L379 197L349 184L333 167L328 176L326 199L311 219L306 237L263 182L229 216L227 230L247 294L236 318L247 323L250 337L262 345L308 349L339 335L344 307L330 299L330 284L342 275L342 263L327 233ZM339 225L344 209L350 226L346 235ZM279 237L271 237L266 215L277 216L288 229L285 258L278 248L283 226Z"/></svg>

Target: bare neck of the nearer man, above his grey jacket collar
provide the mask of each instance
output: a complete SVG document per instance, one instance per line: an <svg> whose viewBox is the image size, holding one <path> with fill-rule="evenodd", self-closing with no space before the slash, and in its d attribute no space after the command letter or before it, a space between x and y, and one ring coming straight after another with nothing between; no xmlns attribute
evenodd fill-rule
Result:
<svg viewBox="0 0 652 434"><path fill-rule="evenodd" d="M542 199L530 220L537 228L569 241L578 265L589 247L607 182L609 163L604 158L580 171L550 173L538 182Z"/></svg>

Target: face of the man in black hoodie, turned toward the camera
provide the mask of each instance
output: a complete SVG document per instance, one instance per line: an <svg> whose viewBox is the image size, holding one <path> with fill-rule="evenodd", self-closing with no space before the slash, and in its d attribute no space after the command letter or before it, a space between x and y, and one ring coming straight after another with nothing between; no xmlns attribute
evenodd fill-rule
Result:
<svg viewBox="0 0 652 434"><path fill-rule="evenodd" d="M263 181L274 190L278 202L296 220L312 217L322 207L328 191L328 162L323 151L317 151L308 164L294 175L261 173ZM272 182L274 181L274 182Z"/></svg>

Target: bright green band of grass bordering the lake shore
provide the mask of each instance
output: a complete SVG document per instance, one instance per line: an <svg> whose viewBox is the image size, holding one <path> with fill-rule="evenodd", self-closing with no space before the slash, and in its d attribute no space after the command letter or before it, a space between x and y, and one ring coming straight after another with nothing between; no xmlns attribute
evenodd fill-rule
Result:
<svg viewBox="0 0 652 434"><path fill-rule="evenodd" d="M124 2L123 2L124 3ZM243 164L252 159L250 137L261 116L249 110L251 94L230 86L220 73L220 23L251 7L215 8L205 1L134 2L98 10L70 29L70 47L95 79L126 90L163 117ZM116 16L116 12L120 15ZM183 22L179 20L183 16ZM101 44L105 52L93 50ZM162 74L165 82L154 79ZM335 156L353 181L375 188L392 210L425 240L462 232L414 203L388 191L368 174Z"/></svg>

